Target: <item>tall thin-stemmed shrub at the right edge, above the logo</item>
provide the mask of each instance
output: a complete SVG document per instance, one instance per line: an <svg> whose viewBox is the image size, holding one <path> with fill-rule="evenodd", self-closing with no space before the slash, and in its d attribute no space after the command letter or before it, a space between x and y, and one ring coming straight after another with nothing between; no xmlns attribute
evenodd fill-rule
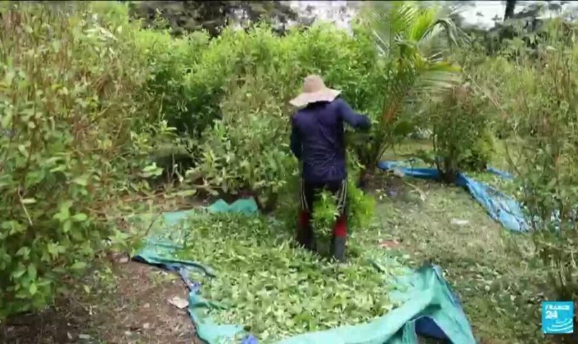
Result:
<svg viewBox="0 0 578 344"><path fill-rule="evenodd" d="M537 254L548 268L557 297L575 300L578 297L574 259L578 252L575 240L578 235L575 172L578 109L576 83L570 75L578 67L578 50L556 41L548 43L555 49L542 50L539 61L532 63L533 72L542 85L540 98L547 100L537 111L537 119L542 125L537 127L531 140L523 140L520 144L522 168L517 168L517 172L524 184L522 199L536 230Z"/></svg>

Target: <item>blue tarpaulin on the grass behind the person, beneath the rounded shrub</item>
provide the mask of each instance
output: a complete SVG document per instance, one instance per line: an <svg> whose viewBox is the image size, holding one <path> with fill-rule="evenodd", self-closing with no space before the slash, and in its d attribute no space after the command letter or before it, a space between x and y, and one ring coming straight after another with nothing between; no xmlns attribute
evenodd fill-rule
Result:
<svg viewBox="0 0 578 344"><path fill-rule="evenodd" d="M403 166L403 162L384 161L380 162L378 167L384 170L398 170L404 175L413 178L428 180L440 179L440 174L437 169L407 167ZM489 169L489 171L500 175L502 178L512 178L509 173L504 171L493 168ZM473 180L463 173L458 174L456 185L467 189L472 197L486 209L489 215L497 222L500 222L505 228L516 232L528 231L529 226L524 218L524 213L522 213L522 207L520 203L512 197L504 195L504 193L497 191L489 185Z"/></svg>

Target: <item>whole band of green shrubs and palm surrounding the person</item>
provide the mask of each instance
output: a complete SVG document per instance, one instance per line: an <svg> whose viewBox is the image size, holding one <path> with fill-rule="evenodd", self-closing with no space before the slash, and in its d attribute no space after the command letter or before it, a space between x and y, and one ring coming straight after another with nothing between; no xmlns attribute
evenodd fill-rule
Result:
<svg viewBox="0 0 578 344"><path fill-rule="evenodd" d="M40 310L63 276L127 248L106 212L127 195L253 195L290 227L288 100L313 73L374 122L347 133L354 226L374 208L357 182L381 182L377 162L411 133L431 133L409 153L446 182L501 154L531 219L532 244L514 251L548 276L551 299L577 299L574 22L509 7L480 32L445 8L382 2L348 32L263 6L1 4L0 319Z"/></svg>

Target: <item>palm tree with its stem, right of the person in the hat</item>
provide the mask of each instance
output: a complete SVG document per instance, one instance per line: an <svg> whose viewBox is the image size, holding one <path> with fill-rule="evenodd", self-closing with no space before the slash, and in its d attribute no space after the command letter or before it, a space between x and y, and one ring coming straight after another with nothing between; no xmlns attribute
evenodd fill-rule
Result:
<svg viewBox="0 0 578 344"><path fill-rule="evenodd" d="M361 20L381 53L383 81L381 111L374 118L369 143L359 151L365 172L372 173L385 151L411 131L408 105L420 97L436 97L459 81L460 69L445 54L462 36L447 8L414 1L372 1L361 10Z"/></svg>

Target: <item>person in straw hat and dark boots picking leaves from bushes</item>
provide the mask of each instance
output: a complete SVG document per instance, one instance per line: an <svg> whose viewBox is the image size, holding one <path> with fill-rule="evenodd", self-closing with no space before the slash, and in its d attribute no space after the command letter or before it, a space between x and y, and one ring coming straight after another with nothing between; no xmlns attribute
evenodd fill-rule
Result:
<svg viewBox="0 0 578 344"><path fill-rule="evenodd" d="M290 147L302 162L297 241L308 250L316 249L311 228L313 197L327 189L336 195L339 209L330 249L336 260L344 261L347 239L347 171L343 122L356 129L369 129L371 123L366 116L356 114L345 100L339 98L340 93L325 87L319 76L305 78L303 92L290 101L291 105L300 108L291 118Z"/></svg>

